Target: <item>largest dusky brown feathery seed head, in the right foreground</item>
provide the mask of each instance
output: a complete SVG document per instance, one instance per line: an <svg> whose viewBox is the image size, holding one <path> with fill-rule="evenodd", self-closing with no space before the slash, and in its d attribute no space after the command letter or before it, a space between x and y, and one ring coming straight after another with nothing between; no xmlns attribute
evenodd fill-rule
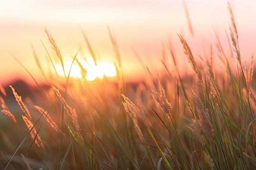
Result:
<svg viewBox="0 0 256 170"><path fill-rule="evenodd" d="M210 137L210 139L213 141L214 132L213 132L213 125L210 122L210 115L209 110L207 108L204 108L204 105L199 98L199 96L191 89L193 98L195 100L195 107L198 112L198 123L200 125L200 128L204 132L204 135L207 135Z"/></svg>

